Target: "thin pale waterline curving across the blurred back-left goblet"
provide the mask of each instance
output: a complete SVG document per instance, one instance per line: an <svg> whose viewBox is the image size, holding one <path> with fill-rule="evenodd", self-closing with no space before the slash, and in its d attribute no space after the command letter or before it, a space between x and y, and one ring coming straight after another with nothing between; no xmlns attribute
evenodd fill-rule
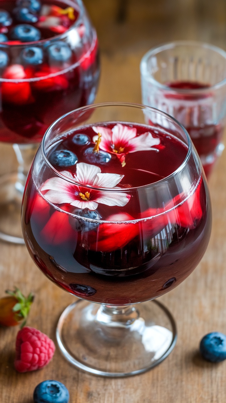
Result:
<svg viewBox="0 0 226 403"><path fill-rule="evenodd" d="M87 55L90 55L91 52L93 52L93 49L95 48L95 44L97 42L97 33L95 31L95 28L92 29L92 33L93 33L93 40L92 40L92 43L91 43L89 49L87 50L87 52L85 52L83 54L83 56L76 63L70 64L70 66L66 67L66 69L57 71L56 73L50 73L50 74L42 76L42 77L31 77L31 78L24 78L24 79L5 79L5 78L0 77L0 83L33 83L35 81L46 80L46 79L49 79L52 77L57 77L59 75L68 73L68 71L71 71L71 70L75 69L76 67L78 67L83 62L83 60L85 60L85 58L87 58Z"/></svg>

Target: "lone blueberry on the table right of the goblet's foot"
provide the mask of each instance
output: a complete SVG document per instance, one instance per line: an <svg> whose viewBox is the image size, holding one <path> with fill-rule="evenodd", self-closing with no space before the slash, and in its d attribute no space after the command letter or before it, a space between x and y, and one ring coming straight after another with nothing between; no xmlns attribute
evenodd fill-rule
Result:
<svg viewBox="0 0 226 403"><path fill-rule="evenodd" d="M208 333L201 339L199 348L201 355L207 361L224 361L226 359L226 336L219 332Z"/></svg>

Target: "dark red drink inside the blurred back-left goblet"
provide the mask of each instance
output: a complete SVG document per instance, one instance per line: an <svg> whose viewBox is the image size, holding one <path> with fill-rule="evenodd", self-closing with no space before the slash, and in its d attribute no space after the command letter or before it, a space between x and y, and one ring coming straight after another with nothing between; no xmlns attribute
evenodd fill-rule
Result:
<svg viewBox="0 0 226 403"><path fill-rule="evenodd" d="M0 3L0 8L6 10L15 6L15 2ZM52 4L48 1L43 3ZM54 4L64 8L68 6L64 2L55 1ZM77 15L78 13L75 12L75 17ZM40 28L40 31L41 39L56 35L48 29ZM20 71L25 75L23 79L27 80L22 80L23 82L17 82L16 79L14 82L7 81L14 79L11 73L8 74L10 68L22 63L19 59L22 48L0 44L0 50L7 52L9 57L8 66L0 72L3 77L3 82L0 83L2 100L0 141L9 143L40 142L54 120L70 110L94 101L100 75L96 33L95 30L92 33L90 28L89 40L84 39L86 38L85 25L81 24L75 35L81 35L81 44L73 50L70 62L51 63L45 47L47 44L44 43L42 64L38 66L19 65ZM60 37L59 40L61 40ZM26 44L22 45L25 48ZM36 46L35 43L32 46Z"/></svg>

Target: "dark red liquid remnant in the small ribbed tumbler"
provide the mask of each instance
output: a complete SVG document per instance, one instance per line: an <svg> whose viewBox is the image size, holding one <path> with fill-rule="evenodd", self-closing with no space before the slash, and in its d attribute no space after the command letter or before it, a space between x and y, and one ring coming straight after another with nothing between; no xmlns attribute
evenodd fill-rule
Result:
<svg viewBox="0 0 226 403"><path fill-rule="evenodd" d="M180 122L182 123L183 126L187 129L189 135L191 136L191 139L195 145L195 148L199 154L199 156L202 158L202 160L205 161L205 158L211 154L213 154L213 162L208 163L208 162L203 162L203 168L205 170L205 173L208 175L209 172L211 171L212 165L214 164L216 160L216 147L218 144L222 141L222 135L223 135L223 127L222 125L207 125L205 122L206 116L208 114L207 108L209 106L206 106L205 102L201 102L201 100L204 100L206 98L212 98L213 94L211 91L205 91L203 93L195 93L194 90L199 90L199 89L208 89L210 86L197 83L197 82L191 82L191 81L175 81L172 83L166 83L166 85L172 89L184 89L184 90L191 90L189 93L166 93L165 97L168 99L177 99L177 100L187 100L187 101L196 101L197 103L200 103L200 108L197 108L197 111L195 111L196 116L195 120L197 123L192 123L194 121L194 107L187 106L187 114L186 116L183 116L183 121ZM214 100L213 100L214 103ZM181 105L181 112L184 109L183 104ZM180 113L180 112L178 112ZM204 117L205 116L205 117ZM179 116L175 116L176 119L180 121ZM186 122L189 122L186 124Z"/></svg>

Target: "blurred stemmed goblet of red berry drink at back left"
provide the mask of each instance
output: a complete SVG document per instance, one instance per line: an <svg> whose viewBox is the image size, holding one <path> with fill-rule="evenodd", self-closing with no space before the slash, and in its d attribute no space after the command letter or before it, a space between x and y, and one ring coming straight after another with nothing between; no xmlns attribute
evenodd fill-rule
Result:
<svg viewBox="0 0 226 403"><path fill-rule="evenodd" d="M45 4L52 1L45 0ZM0 43L0 50L8 55L7 69L0 70L0 141L12 143L19 164L18 172L0 177L0 239L8 242L24 243L22 196L45 131L62 114L93 103L97 91L100 66L96 31L81 0L63 0L59 5L71 6L78 13L66 32L37 42ZM66 61L56 62L48 52L59 44L65 45ZM34 48L40 50L43 62L29 66L22 56Z"/></svg>

